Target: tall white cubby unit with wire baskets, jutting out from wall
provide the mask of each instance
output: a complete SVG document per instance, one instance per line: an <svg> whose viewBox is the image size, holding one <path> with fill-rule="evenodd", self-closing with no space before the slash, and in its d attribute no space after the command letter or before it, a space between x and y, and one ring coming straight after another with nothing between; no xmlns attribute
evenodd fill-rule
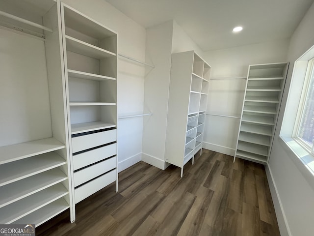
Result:
<svg viewBox="0 0 314 236"><path fill-rule="evenodd" d="M172 54L165 161L181 167L201 150L210 66L194 51Z"/></svg>

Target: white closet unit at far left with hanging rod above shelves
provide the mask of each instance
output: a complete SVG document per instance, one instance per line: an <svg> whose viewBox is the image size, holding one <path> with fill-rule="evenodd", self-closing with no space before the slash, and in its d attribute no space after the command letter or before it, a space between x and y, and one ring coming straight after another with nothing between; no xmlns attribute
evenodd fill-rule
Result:
<svg viewBox="0 0 314 236"><path fill-rule="evenodd" d="M0 224L74 221L59 1L0 1L0 25Z"/></svg>

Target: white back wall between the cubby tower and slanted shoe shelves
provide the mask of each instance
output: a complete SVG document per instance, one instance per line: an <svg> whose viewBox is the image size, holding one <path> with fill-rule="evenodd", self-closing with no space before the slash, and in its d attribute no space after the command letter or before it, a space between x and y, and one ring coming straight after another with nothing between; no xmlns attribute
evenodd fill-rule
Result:
<svg viewBox="0 0 314 236"><path fill-rule="evenodd" d="M246 77L249 64L286 61L289 40L251 44L203 53L211 66L210 78ZM240 117L245 79L210 80L207 113ZM204 148L235 154L239 118L208 115Z"/></svg>

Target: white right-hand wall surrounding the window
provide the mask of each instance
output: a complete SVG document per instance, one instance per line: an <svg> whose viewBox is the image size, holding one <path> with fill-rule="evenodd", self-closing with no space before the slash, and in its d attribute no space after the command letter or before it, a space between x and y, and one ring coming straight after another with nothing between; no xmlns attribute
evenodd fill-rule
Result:
<svg viewBox="0 0 314 236"><path fill-rule="evenodd" d="M312 236L314 234L314 189L308 182L313 182L314 178L309 180L304 177L302 170L290 159L296 157L284 147L279 138L293 63L314 45L313 22L314 4L309 8L290 40L287 59L290 61L288 78L268 165L267 177L282 236Z"/></svg>

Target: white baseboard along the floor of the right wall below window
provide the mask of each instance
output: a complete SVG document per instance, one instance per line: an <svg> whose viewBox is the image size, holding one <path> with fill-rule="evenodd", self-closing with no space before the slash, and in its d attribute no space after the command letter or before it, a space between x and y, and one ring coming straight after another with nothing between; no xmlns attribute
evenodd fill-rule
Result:
<svg viewBox="0 0 314 236"><path fill-rule="evenodd" d="M271 169L269 168L268 164L265 165L265 171L266 171L267 181L268 181L268 185L269 185L269 189L271 193L271 198L273 200L274 207L275 207L280 235L292 236L289 229L288 221L285 215L285 211L282 206L280 196L278 194L278 189L277 189L276 183L271 173Z"/></svg>

